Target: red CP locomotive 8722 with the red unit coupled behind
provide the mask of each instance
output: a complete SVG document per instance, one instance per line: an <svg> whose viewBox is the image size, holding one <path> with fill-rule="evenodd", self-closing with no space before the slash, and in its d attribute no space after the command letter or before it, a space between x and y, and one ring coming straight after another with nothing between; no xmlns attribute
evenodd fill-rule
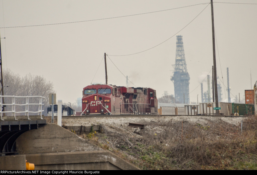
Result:
<svg viewBox="0 0 257 175"><path fill-rule="evenodd" d="M82 93L81 115L158 114L156 91L151 88L93 84Z"/></svg>

